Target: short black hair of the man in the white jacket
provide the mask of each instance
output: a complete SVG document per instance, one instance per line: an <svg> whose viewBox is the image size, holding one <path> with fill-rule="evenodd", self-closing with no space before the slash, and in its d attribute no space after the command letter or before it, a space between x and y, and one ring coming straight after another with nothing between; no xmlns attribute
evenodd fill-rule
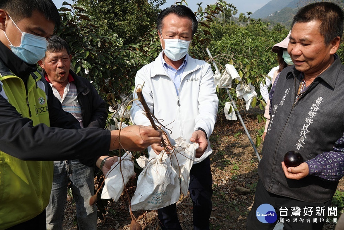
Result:
<svg viewBox="0 0 344 230"><path fill-rule="evenodd" d="M192 21L192 36L195 35L198 27L198 21L196 19L195 13L192 12L189 7L183 5L172 5L171 7L165 8L163 11L161 11L157 19L157 29L159 30L160 34L162 29L162 20L171 13L177 15L180 18L190 18Z"/></svg>

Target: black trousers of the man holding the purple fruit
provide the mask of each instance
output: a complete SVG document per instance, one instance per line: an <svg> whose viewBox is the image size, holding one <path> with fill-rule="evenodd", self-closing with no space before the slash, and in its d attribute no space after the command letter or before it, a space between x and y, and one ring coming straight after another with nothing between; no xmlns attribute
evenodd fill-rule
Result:
<svg viewBox="0 0 344 230"><path fill-rule="evenodd" d="M262 223L256 216L258 207L264 203L268 203L269 205L272 205L273 208L275 208L277 221L280 219L280 217L283 218L284 230L321 230L326 221L328 210L327 207L331 205L331 200L324 203L312 203L278 196L268 192L259 179L256 188L255 201L247 217L247 230L272 230L275 227L277 221L275 223ZM296 207L300 207L299 212L295 209ZM320 207L323 207L323 215L316 215L317 207L318 209L320 209ZM288 209L288 211L286 211L286 208ZM312 212L310 212L310 210L312 210ZM298 213L300 213L300 216L298 216ZM295 219L297 222L295 221ZM300 219L303 219L303 221L300 221ZM307 219L309 219L309 221ZM316 219L316 222L313 219ZM323 219L322 222L321 219Z"/></svg>

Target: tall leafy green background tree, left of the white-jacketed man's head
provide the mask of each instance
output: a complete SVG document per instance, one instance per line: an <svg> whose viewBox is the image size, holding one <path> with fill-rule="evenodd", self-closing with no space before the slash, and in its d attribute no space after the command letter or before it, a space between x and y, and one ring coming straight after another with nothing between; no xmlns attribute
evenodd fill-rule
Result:
<svg viewBox="0 0 344 230"><path fill-rule="evenodd" d="M136 43L154 28L165 0L76 0L86 7L100 32L115 32L124 44Z"/></svg>

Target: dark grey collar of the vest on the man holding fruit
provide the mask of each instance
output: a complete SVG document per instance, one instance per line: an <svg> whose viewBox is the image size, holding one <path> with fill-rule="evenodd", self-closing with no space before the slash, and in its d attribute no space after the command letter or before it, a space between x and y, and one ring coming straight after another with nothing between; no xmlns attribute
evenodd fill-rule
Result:
<svg viewBox="0 0 344 230"><path fill-rule="evenodd" d="M326 84L328 84L332 88L335 87L338 73L342 67L342 63L341 63L341 60L337 54L334 54L334 58L335 58L335 60L331 64L331 66L327 70L325 70L324 72L319 74L317 77L315 77L314 81L323 80L324 82L326 82ZM290 67L288 67L288 68L290 68ZM292 68L289 69L289 72L287 73L286 78L288 79L290 77L296 77L297 79L301 80L300 71L296 70L295 66L292 66Z"/></svg>

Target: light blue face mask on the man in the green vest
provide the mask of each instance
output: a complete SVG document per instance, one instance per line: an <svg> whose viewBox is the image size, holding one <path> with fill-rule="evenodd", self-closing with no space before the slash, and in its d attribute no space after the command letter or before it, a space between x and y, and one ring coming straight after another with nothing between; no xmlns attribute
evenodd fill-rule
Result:
<svg viewBox="0 0 344 230"><path fill-rule="evenodd" d="M11 17L10 17L11 18ZM12 18L11 18L12 20ZM18 28L17 24L12 20L15 27ZM45 38L31 33L22 32L21 42L19 46L13 46L12 42L8 39L5 31L4 34L7 40L10 42L11 51L17 55L21 60L29 64L35 64L45 56L46 47L48 42Z"/></svg>

